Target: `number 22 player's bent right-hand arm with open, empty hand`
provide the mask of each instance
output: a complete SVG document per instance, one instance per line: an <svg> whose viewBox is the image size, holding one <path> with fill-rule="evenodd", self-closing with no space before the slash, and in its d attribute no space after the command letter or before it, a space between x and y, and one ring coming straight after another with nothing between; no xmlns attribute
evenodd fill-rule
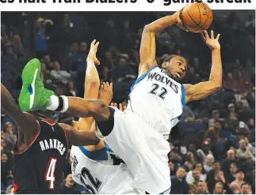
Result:
<svg viewBox="0 0 256 195"><path fill-rule="evenodd" d="M222 87L222 62L220 54L220 34L214 37L214 32L211 31L211 38L208 32L204 31L201 34L204 42L212 51L212 69L208 81L199 84L184 84L186 102L203 99L212 93L218 91Z"/></svg>

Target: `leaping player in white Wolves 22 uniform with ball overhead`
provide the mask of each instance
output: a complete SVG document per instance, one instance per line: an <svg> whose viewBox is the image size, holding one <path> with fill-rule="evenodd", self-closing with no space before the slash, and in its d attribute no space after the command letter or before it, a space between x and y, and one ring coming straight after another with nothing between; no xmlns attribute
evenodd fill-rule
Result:
<svg viewBox="0 0 256 195"><path fill-rule="evenodd" d="M139 193L169 193L170 168L167 153L170 146L164 139L170 133L185 103L202 99L221 88L222 62L220 43L213 32L211 38L204 32L204 41L212 51L212 70L209 80L199 84L180 84L185 76L185 58L170 55L162 63L155 61L155 32L178 24L180 12L147 24L140 46L139 77L132 85L129 110L121 112L107 107L99 99L47 96L45 108L51 111L69 112L79 117L94 117L97 128L113 152L124 160L132 174L132 187ZM40 88L44 94L43 88ZM35 94L36 96L36 94ZM63 102L63 103L59 103ZM32 104L32 109L42 105ZM160 117L159 117L160 116Z"/></svg>

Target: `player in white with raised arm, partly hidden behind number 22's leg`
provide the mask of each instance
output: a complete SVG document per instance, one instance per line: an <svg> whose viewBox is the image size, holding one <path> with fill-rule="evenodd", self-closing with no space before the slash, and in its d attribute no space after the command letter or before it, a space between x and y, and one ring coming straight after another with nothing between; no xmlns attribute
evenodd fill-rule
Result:
<svg viewBox="0 0 256 195"><path fill-rule="evenodd" d="M90 54L86 60L84 98L98 98L109 105L113 96L113 85L103 83L99 92L100 79L94 65L99 64L96 58L98 44L95 44L95 41L91 43ZM79 118L78 122L73 121L71 126L77 130L95 131L93 122L94 118ZM97 145L72 146L70 156L72 178L76 183L86 187L90 193L133 193L132 176L127 166L114 155L104 139Z"/></svg>

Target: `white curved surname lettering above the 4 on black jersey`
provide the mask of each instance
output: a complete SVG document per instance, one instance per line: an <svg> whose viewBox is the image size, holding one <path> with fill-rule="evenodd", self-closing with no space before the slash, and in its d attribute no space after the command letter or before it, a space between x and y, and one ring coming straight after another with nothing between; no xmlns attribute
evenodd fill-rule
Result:
<svg viewBox="0 0 256 195"><path fill-rule="evenodd" d="M48 139L44 141L39 142L41 150L47 150L47 149L57 149L61 155L64 154L64 152L67 150L65 147L63 147L63 143L58 141L57 139Z"/></svg>

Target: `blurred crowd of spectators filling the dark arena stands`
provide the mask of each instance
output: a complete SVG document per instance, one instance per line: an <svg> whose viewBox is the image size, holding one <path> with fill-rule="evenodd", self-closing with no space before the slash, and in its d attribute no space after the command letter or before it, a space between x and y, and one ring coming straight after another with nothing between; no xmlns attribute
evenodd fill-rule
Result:
<svg viewBox="0 0 256 195"><path fill-rule="evenodd" d="M216 11L211 26L221 34L223 88L189 103L170 134L171 193L255 193L254 11ZM40 58L41 78L59 95L83 96L90 42L100 41L101 81L113 82L113 101L126 103L136 80L144 24L170 13L1 13L1 80L17 99L21 71ZM243 14L244 15L244 14ZM159 66L166 54L187 58L184 83L207 81L211 52L197 34L176 26L156 35ZM13 190L13 144L17 126L1 113L1 192ZM65 119L57 115L55 122ZM63 170L63 193L89 193Z"/></svg>

